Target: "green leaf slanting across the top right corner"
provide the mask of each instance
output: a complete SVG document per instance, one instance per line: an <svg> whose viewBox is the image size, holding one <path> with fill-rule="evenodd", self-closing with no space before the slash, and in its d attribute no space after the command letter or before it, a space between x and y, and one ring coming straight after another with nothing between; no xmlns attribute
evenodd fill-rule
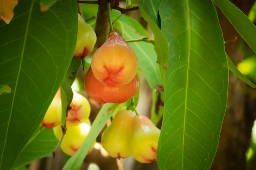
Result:
<svg viewBox="0 0 256 170"><path fill-rule="evenodd" d="M256 53L256 27L249 18L229 0L213 0L227 19L236 28L236 31Z"/></svg>

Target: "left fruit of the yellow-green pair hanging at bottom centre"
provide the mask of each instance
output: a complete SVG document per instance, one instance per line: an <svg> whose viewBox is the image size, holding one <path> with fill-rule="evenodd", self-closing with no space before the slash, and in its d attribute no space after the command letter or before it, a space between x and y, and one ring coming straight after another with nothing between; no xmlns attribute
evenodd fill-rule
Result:
<svg viewBox="0 0 256 170"><path fill-rule="evenodd" d="M102 147L111 157L127 158L131 156L129 142L133 117L132 111L128 111L125 107L121 108L116 113L111 125L102 134Z"/></svg>

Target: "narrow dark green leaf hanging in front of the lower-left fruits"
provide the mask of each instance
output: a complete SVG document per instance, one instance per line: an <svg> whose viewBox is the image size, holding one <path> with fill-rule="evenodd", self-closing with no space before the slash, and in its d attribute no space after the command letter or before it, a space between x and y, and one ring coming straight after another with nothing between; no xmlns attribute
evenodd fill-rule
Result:
<svg viewBox="0 0 256 170"><path fill-rule="evenodd" d="M73 91L71 86L73 85L73 82L77 77L80 66L81 59L73 57L65 75L65 78L61 84L61 127L64 126L66 120L67 105L70 106L73 99Z"/></svg>

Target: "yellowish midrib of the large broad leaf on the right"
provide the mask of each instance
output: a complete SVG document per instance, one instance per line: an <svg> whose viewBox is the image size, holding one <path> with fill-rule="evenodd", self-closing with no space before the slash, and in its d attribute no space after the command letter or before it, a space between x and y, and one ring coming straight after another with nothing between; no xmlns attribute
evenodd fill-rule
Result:
<svg viewBox="0 0 256 170"><path fill-rule="evenodd" d="M189 14L189 0L186 0L186 14L188 18L188 65L187 65L187 77L186 77L186 92L185 92L185 107L184 107L184 123L183 123L183 141L182 141L182 170L184 165L184 138L185 138L185 124L186 124L186 107L187 107L187 94L188 94L188 82L189 82L189 63L190 63L190 48L191 48L191 23Z"/></svg>

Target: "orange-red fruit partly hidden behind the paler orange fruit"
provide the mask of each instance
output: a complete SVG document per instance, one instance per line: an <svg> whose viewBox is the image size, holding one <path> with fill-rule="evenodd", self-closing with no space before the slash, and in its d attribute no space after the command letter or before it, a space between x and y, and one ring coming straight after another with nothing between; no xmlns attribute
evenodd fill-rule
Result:
<svg viewBox="0 0 256 170"><path fill-rule="evenodd" d="M135 96L139 89L137 75L127 85L121 87L109 87L99 82L93 75L91 67L84 78L84 88L87 94L99 103L124 103Z"/></svg>

